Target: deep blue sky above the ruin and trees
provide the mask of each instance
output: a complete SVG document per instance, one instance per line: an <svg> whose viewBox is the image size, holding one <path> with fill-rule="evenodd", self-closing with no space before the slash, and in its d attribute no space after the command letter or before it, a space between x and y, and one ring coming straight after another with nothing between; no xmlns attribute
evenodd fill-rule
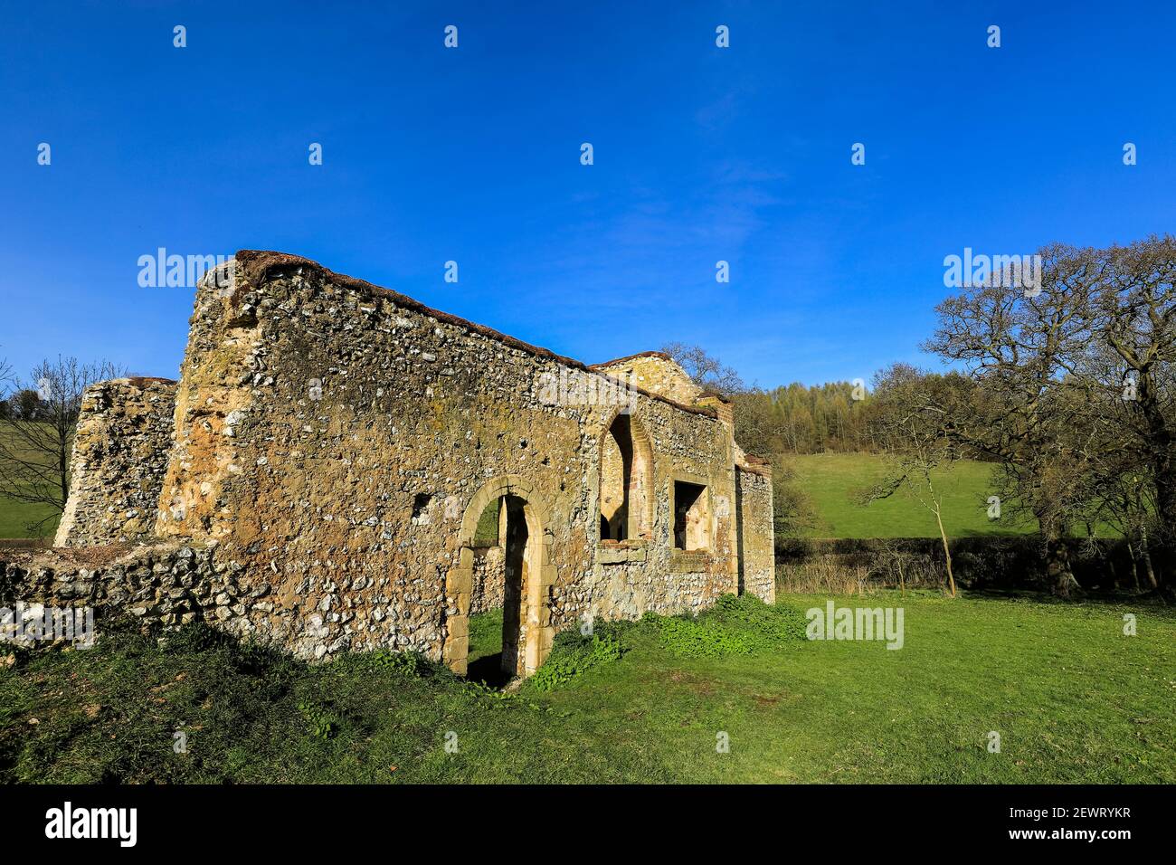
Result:
<svg viewBox="0 0 1176 865"><path fill-rule="evenodd" d="M680 340L760 385L869 379L934 364L944 255L1176 227L1167 4L2 9L0 357L26 374L174 377L193 291L138 284L166 247L298 253L588 362Z"/></svg>

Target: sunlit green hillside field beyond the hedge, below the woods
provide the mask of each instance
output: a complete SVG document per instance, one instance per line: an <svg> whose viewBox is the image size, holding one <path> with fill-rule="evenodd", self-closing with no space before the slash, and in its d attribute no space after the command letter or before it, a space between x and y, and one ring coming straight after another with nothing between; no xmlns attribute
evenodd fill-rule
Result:
<svg viewBox="0 0 1176 865"><path fill-rule="evenodd" d="M873 453L797 454L788 460L796 468L799 486L807 492L817 513L817 525L806 532L811 538L923 538L938 537L935 515L906 491L862 506L854 500L886 473L886 459ZM961 460L951 471L933 475L942 491L943 526L948 537L965 534L1028 534L1036 521L1015 523L1008 515L988 518L993 466Z"/></svg>

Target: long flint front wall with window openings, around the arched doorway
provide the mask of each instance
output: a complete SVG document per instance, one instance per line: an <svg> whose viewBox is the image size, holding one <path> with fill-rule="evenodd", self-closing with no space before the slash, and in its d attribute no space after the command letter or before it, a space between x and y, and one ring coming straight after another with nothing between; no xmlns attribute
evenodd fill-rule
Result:
<svg viewBox="0 0 1176 865"><path fill-rule="evenodd" d="M198 291L155 528L215 541L253 584L241 591L266 592L272 607L238 630L303 657L440 657L467 612L446 592L462 518L507 475L526 478L543 513L546 537L532 541L555 567L550 628L734 591L730 432L713 413L633 397L654 450L654 537L606 548L600 437L617 407L544 395L582 366L302 259L240 254L227 267L232 290L209 279ZM679 477L708 485L707 552L671 550Z"/></svg>

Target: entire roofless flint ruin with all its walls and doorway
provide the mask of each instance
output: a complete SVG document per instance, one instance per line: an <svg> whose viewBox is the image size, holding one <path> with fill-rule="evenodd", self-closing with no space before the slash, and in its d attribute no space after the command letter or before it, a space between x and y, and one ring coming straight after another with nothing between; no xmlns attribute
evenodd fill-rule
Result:
<svg viewBox="0 0 1176 865"><path fill-rule="evenodd" d="M526 676L589 618L775 595L770 468L668 355L586 366L274 252L201 280L178 382L87 391L54 547L6 600L459 673L483 610Z"/></svg>

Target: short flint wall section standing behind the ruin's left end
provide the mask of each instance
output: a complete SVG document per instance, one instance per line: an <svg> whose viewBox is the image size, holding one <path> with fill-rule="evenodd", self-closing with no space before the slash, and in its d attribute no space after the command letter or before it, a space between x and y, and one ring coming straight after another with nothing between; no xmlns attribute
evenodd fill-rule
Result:
<svg viewBox="0 0 1176 865"><path fill-rule="evenodd" d="M175 382L113 379L82 394L69 500L54 546L149 538L172 446Z"/></svg>

